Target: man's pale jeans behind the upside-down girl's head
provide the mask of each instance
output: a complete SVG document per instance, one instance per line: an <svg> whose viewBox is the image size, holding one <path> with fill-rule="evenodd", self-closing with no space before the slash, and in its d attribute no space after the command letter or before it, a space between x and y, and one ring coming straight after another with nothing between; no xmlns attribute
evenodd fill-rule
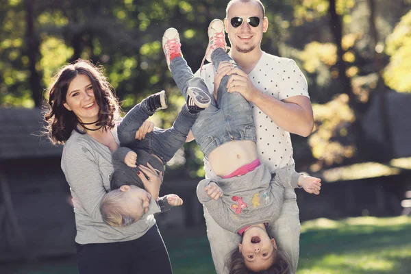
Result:
<svg viewBox="0 0 411 274"><path fill-rule="evenodd" d="M297 206L295 191L292 188L284 190L284 202L279 218L270 223L267 229L277 242L277 245L286 251L292 264L292 273L296 273L299 258L299 236L301 225L299 222L299 208ZM207 236L210 242L212 260L217 274L229 273L225 267L227 254L238 248L241 237L229 232L212 219L212 216L203 206L204 217L207 224Z"/></svg>

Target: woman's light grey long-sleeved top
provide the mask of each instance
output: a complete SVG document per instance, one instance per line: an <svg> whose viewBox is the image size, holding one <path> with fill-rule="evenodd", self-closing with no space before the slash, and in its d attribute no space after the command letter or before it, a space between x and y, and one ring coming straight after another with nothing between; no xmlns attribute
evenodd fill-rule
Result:
<svg viewBox="0 0 411 274"><path fill-rule="evenodd" d="M117 132L113 130L112 134L119 144ZM99 205L105 193L110 191L112 153L88 134L73 130L64 144L61 166L73 197L77 243L135 240L155 225L153 214L160 212L160 208L154 199L151 199L149 212L132 225L110 227L103 223Z"/></svg>

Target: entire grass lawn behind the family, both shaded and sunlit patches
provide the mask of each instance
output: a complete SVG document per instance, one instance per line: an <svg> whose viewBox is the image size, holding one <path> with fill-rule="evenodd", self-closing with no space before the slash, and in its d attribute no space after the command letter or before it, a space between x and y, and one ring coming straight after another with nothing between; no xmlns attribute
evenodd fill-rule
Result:
<svg viewBox="0 0 411 274"><path fill-rule="evenodd" d="M317 219L302 225L297 274L408 274L411 217ZM205 229L163 232L175 274L214 273ZM75 260L0 266L0 273L77 273Z"/></svg>

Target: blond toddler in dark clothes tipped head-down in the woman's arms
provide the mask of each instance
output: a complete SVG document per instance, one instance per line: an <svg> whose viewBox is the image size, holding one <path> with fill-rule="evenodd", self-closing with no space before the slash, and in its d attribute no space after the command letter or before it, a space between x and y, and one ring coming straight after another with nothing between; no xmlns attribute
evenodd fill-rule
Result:
<svg viewBox="0 0 411 274"><path fill-rule="evenodd" d="M155 128L142 140L136 139L136 132L142 123L154 112L167 108L164 90L144 99L121 121L117 129L121 147L112 153L112 191L100 203L101 216L108 225L131 225L141 219L151 203L157 202L162 212L171 206L182 205L183 201L177 195L159 199L158 192L164 164L184 145L199 112L210 105L210 96L196 86L199 80L193 79L183 93L187 103L171 128Z"/></svg>

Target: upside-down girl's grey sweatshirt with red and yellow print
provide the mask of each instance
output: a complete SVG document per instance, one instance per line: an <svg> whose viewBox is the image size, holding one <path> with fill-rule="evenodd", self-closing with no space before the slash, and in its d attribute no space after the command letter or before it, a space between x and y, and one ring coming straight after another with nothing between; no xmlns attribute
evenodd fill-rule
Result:
<svg viewBox="0 0 411 274"><path fill-rule="evenodd" d="M272 180L269 169L261 164L242 176L203 179L197 186L197 197L216 223L238 233L249 225L272 223L281 211L284 188L298 187L297 172L290 176L286 169L279 169L273 176ZM212 182L223 190L223 197L216 201L204 190Z"/></svg>

